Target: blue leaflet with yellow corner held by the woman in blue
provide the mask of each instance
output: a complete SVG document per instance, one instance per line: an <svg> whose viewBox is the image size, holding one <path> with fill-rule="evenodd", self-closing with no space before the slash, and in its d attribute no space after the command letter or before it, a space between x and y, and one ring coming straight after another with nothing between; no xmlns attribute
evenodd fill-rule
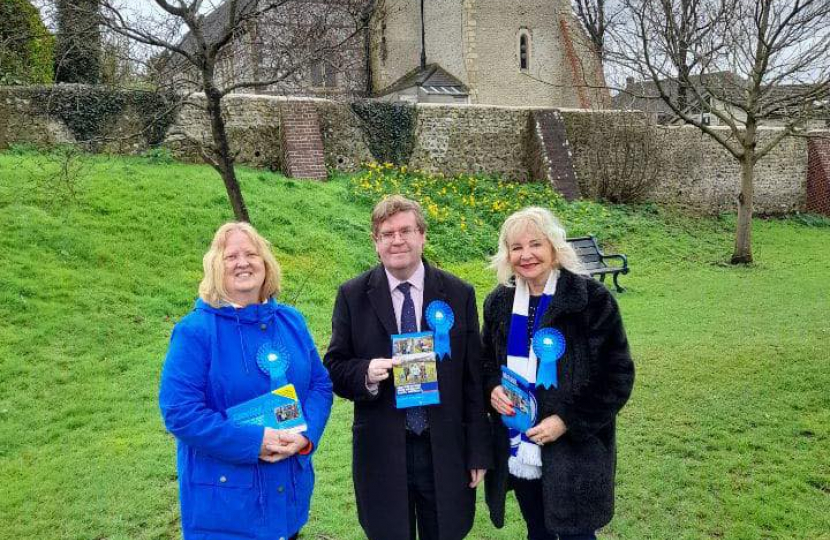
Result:
<svg viewBox="0 0 830 540"><path fill-rule="evenodd" d="M228 419L238 426L263 426L292 433L308 429L293 384L235 405L227 410L227 414Z"/></svg>

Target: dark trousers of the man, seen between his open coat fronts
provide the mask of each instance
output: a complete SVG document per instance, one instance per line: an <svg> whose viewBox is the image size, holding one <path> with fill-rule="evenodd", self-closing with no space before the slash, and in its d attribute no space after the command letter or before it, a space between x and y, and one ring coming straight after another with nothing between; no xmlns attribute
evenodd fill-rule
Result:
<svg viewBox="0 0 830 540"><path fill-rule="evenodd" d="M406 486L409 491L409 538L438 540L438 510L429 430L406 432Z"/></svg>

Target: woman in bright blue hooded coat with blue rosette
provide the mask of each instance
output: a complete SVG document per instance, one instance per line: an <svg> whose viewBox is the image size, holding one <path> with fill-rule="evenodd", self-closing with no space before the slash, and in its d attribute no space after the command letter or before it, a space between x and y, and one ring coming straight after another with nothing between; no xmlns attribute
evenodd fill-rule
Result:
<svg viewBox="0 0 830 540"><path fill-rule="evenodd" d="M177 440L185 540L288 540L308 521L311 456L332 387L302 315L274 300L279 289L268 242L246 223L220 227L204 257L200 298L173 329L159 391ZM228 409L287 383L304 428L229 417Z"/></svg>

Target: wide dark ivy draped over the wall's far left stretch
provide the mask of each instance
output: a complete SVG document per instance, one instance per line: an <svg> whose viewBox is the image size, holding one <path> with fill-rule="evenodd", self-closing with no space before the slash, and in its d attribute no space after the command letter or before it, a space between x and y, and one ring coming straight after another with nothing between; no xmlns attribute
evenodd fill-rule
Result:
<svg viewBox="0 0 830 540"><path fill-rule="evenodd" d="M150 90L58 85L35 87L32 98L35 112L60 120L78 142L92 146L128 109L140 118L140 134L147 144L158 146L178 113L174 94Z"/></svg>

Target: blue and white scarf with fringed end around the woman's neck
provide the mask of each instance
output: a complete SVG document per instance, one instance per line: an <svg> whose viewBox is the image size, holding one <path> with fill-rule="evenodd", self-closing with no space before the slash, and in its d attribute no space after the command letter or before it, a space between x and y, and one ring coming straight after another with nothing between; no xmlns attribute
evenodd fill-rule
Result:
<svg viewBox="0 0 830 540"><path fill-rule="evenodd" d="M553 299L558 278L558 269L554 269L548 276L548 281L536 308L536 318L533 324L534 332L539 328L542 316ZM513 314L510 318L510 331L507 334L507 367L524 377L527 382L535 384L538 362L533 347L529 346L530 336L527 335L529 304L530 289L527 282L516 276ZM528 480L541 478L542 449L528 439L524 433L514 429L508 429L507 431L510 437L510 458L507 462L510 474Z"/></svg>

